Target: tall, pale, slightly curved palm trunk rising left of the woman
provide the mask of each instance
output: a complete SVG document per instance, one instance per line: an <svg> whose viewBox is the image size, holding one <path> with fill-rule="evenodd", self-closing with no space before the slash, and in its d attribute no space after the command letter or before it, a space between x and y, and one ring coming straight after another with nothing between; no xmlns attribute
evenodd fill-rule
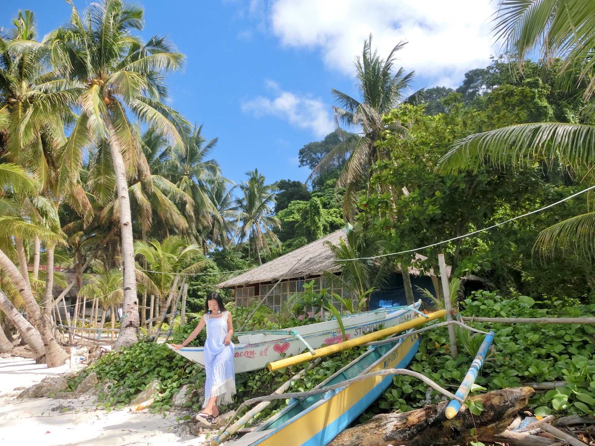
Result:
<svg viewBox="0 0 595 446"><path fill-rule="evenodd" d="M122 240L122 263L124 301L120 322L120 334L114 348L129 346L138 340L139 332L139 301L136 296L136 272L134 271L134 239L132 235L132 216L130 213L130 197L128 182L126 181L126 167L120 152L120 142L116 135L114 123L109 113L105 114L105 126L109 132L109 145L112 162L114 163L115 181L120 204L120 234Z"/></svg>

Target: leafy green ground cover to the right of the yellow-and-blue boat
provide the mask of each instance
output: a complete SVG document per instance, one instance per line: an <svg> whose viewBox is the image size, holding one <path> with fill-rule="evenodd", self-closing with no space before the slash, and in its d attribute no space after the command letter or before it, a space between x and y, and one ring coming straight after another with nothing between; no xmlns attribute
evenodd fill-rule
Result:
<svg viewBox="0 0 595 446"><path fill-rule="evenodd" d="M571 302L569 302L571 303ZM572 304L572 303L571 303ZM536 302L527 296L499 296L478 291L461 303L461 314L485 318L580 317L593 315L595 306L565 306L562 300ZM568 381L564 387L537 391L528 407L539 413L585 414L595 411L595 328L580 324L473 323L495 332L493 347L475 383L487 390L516 387L524 382ZM474 337L483 338L477 334ZM459 337L459 345L461 338ZM453 360L445 327L422 335L419 352L409 368L423 373L454 391L465 376L473 356L459 347ZM412 376L394 376L361 420L376 413L416 409L442 399L437 391Z"/></svg>

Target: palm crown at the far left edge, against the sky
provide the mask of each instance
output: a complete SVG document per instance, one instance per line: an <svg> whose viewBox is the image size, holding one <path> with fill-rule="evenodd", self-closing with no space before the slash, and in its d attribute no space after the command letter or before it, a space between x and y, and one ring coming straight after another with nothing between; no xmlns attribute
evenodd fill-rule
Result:
<svg viewBox="0 0 595 446"><path fill-rule="evenodd" d="M12 23L14 28L0 30L1 155L29 165L43 187L51 175L40 156L43 143L62 145L64 120L71 121L78 94L73 83L47 70L50 49L34 40L33 12L19 11Z"/></svg>

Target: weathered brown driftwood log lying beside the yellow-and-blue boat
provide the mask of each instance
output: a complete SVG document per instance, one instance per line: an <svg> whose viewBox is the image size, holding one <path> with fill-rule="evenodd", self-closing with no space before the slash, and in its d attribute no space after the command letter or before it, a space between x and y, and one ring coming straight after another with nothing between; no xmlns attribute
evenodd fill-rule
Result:
<svg viewBox="0 0 595 446"><path fill-rule="evenodd" d="M446 401L406 413L378 414L363 425L346 429L328 446L438 446L493 438L505 431L533 392L530 387L514 387L477 395L471 400L481 401L484 407L481 415L474 416L463 406L452 420L444 416ZM474 428L475 435L471 435ZM546 442L538 442L536 446L553 443L543 439Z"/></svg>

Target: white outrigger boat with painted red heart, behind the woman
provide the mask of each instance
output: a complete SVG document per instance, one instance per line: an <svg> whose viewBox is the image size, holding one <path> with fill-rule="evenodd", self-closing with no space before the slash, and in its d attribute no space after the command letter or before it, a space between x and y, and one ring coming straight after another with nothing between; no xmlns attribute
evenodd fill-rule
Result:
<svg viewBox="0 0 595 446"><path fill-rule="evenodd" d="M389 328L411 321L419 311L421 302L411 306L392 307L374 311L341 316L346 340L357 338L380 328ZM343 341L343 334L337 319L302 325L276 331L240 332L239 343L234 346L233 365L236 373L264 369L268 363L282 357L296 355L307 349L314 351L322 344L329 346ZM168 347L172 348L170 344ZM182 347L176 350L181 356L204 365L204 347Z"/></svg>

